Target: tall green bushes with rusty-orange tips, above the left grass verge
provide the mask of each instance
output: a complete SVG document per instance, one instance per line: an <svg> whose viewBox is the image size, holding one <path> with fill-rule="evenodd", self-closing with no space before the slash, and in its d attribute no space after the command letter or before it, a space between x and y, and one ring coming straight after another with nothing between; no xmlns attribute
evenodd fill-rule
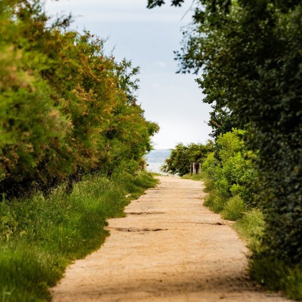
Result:
<svg viewBox="0 0 302 302"><path fill-rule="evenodd" d="M39 0L0 4L0 187L14 193L116 167L138 168L158 125L136 104L138 68L65 31ZM10 191L10 189L14 189Z"/></svg>

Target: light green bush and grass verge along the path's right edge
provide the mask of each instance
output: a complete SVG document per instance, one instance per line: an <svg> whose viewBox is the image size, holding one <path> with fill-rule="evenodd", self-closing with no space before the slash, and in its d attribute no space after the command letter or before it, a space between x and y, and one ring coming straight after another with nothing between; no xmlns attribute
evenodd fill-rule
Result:
<svg viewBox="0 0 302 302"><path fill-rule="evenodd" d="M208 193L204 205L224 219L236 221L234 228L251 251L251 276L270 290L282 290L286 296L300 300L302 270L299 266L286 266L281 260L272 263L265 257L254 258L268 247L263 244L266 222L258 193L261 189L255 164L258 152L247 149L245 135L246 131L235 128L220 134L215 152L208 152L199 159L201 173L187 174L184 178L203 181L204 191Z"/></svg>

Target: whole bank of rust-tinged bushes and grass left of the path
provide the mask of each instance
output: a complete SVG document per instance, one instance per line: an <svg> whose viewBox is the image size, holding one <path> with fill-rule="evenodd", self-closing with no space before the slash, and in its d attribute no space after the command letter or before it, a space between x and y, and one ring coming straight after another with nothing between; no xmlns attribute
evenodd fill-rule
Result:
<svg viewBox="0 0 302 302"><path fill-rule="evenodd" d="M159 130L136 103L139 69L70 20L0 1L3 302L50 300L66 265L109 235L106 219L156 183L139 171Z"/></svg>

